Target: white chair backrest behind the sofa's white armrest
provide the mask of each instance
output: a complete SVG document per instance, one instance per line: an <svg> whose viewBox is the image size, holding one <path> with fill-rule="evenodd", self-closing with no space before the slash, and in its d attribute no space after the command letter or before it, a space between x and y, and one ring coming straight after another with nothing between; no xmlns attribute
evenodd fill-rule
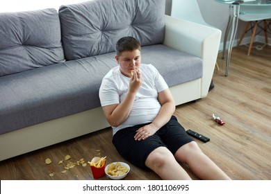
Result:
<svg viewBox="0 0 271 194"><path fill-rule="evenodd" d="M197 0L172 0L171 16L208 25L202 17Z"/></svg>

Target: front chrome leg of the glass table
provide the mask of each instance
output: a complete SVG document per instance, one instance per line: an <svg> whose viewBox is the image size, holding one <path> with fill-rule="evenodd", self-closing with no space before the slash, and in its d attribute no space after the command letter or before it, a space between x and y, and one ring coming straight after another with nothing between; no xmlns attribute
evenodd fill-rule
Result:
<svg viewBox="0 0 271 194"><path fill-rule="evenodd" d="M229 48L228 48L228 55L226 61L226 71L225 76L229 74L229 62L231 60L231 50L233 47L234 38L236 37L236 31L238 27L238 19L239 19L239 12L240 12L240 5L232 5L230 6L232 12L232 19L231 19L231 37L229 39Z"/></svg>

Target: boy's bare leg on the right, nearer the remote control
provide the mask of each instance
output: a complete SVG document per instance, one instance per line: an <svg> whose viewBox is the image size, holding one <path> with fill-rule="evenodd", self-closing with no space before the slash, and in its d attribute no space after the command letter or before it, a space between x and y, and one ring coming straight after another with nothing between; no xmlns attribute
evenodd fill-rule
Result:
<svg viewBox="0 0 271 194"><path fill-rule="evenodd" d="M186 143L176 151L177 161L185 162L199 179L230 179L204 152L195 141Z"/></svg>

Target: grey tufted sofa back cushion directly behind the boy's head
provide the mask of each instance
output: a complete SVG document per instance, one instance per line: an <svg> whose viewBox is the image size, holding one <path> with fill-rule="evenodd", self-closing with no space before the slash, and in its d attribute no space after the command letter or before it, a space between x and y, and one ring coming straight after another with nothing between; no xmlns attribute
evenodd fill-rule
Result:
<svg viewBox="0 0 271 194"><path fill-rule="evenodd" d="M94 0L60 6L58 12L67 60L113 52L124 36L142 46L164 39L165 0Z"/></svg>

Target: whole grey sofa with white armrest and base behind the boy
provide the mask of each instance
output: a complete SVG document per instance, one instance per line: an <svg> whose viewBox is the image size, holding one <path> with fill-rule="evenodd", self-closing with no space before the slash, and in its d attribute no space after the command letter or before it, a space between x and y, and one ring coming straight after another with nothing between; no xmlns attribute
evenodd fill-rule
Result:
<svg viewBox="0 0 271 194"><path fill-rule="evenodd" d="M0 13L0 161L109 126L98 91L123 36L140 40L176 105L206 97L221 32L164 13L164 0Z"/></svg>

